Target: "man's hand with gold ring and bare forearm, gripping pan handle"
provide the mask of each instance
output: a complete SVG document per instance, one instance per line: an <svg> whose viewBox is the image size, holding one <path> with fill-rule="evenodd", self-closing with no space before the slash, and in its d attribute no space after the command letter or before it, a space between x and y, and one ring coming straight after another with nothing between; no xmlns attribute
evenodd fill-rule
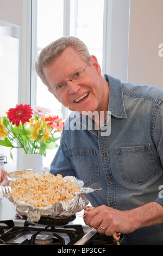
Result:
<svg viewBox="0 0 163 256"><path fill-rule="evenodd" d="M111 236L115 232L128 234L136 229L163 222L163 207L151 202L128 211L101 205L87 212L85 223L99 233Z"/></svg>

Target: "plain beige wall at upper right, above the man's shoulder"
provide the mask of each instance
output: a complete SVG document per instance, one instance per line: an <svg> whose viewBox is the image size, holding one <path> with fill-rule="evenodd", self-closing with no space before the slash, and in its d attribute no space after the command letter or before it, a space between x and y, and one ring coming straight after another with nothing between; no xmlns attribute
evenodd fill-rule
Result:
<svg viewBox="0 0 163 256"><path fill-rule="evenodd" d="M162 0L130 0L128 82L163 90L162 10Z"/></svg>

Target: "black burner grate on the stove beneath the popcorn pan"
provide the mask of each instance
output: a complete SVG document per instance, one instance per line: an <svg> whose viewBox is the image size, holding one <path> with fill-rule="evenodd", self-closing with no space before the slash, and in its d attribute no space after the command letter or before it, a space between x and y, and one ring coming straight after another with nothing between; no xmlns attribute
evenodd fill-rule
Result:
<svg viewBox="0 0 163 256"><path fill-rule="evenodd" d="M5 225L1 225L0 244L8 245L65 245L65 235L68 237L67 245L74 245L80 238L84 236L82 225L64 225L63 227L46 226L36 227L34 223L28 221L24 222L24 226L20 227L13 225L11 221L1 221ZM0 224L1 224L0 223ZM53 223L54 224L54 223ZM5 230L7 229L7 231ZM30 236L30 237L29 237ZM40 241L38 236L52 236L49 241ZM18 243L16 242L19 237L25 239ZM28 237L28 239L26 239Z"/></svg>

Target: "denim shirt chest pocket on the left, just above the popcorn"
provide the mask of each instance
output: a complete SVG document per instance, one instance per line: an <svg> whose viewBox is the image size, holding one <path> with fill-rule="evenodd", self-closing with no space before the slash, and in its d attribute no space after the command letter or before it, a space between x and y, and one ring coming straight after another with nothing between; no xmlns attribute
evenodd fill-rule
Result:
<svg viewBox="0 0 163 256"><path fill-rule="evenodd" d="M78 175L88 186L99 179L99 164L95 149L68 149L70 160Z"/></svg>

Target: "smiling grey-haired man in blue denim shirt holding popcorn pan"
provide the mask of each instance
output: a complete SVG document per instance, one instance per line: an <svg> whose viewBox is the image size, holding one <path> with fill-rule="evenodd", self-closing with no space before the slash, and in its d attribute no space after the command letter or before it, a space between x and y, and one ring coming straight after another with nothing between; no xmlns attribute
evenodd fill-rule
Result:
<svg viewBox="0 0 163 256"><path fill-rule="evenodd" d="M126 245L162 245L163 92L103 77L97 58L72 36L43 49L36 71L72 111L51 173L102 188L88 195L95 208L86 224L123 233Z"/></svg>

